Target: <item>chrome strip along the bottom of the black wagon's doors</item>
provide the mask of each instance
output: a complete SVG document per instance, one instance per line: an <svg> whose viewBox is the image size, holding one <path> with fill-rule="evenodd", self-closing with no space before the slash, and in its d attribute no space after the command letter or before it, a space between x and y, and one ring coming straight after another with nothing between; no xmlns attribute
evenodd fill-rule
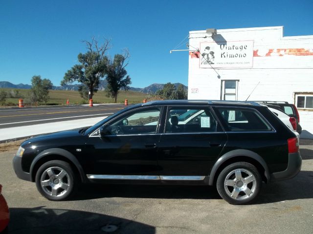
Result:
<svg viewBox="0 0 313 234"><path fill-rule="evenodd" d="M205 176L171 176L171 175L87 175L88 179L100 180L204 180Z"/></svg>

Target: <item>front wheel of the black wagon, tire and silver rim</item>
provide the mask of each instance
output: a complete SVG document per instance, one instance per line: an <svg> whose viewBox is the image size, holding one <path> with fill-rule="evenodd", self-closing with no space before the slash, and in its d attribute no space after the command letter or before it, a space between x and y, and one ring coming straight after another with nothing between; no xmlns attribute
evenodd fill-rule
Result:
<svg viewBox="0 0 313 234"><path fill-rule="evenodd" d="M64 161L53 160L44 163L36 173L37 190L48 200L63 201L74 194L79 177Z"/></svg>

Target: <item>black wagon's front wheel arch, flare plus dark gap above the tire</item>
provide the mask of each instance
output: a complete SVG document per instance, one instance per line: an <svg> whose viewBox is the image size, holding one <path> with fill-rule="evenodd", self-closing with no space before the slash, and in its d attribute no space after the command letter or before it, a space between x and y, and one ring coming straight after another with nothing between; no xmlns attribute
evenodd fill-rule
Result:
<svg viewBox="0 0 313 234"><path fill-rule="evenodd" d="M73 169L80 175L81 181L83 183L87 182L84 170L77 158L67 150L59 148L46 149L34 158L29 171L31 182L35 182L36 172L40 168L40 166L43 165L45 162L52 160L61 160L69 163L73 167Z"/></svg>

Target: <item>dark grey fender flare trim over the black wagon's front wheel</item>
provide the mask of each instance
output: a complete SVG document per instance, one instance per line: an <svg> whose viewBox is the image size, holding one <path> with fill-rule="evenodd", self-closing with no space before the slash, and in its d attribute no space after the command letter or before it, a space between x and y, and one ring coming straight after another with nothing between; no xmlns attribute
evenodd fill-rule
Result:
<svg viewBox="0 0 313 234"><path fill-rule="evenodd" d="M86 183L86 181L87 181L86 175L84 173L83 167L81 166L81 164L79 163L77 158L72 153L68 152L67 150L60 149L60 148L45 149L44 151L40 152L34 158L33 162L30 165L30 170L29 170L30 179L31 179L32 182L34 182L33 181L33 170L34 170L34 167L37 164L37 162L39 160L41 160L42 158L44 158L44 157L46 157L48 155L51 155L51 154L56 154L56 155L63 156L65 158L67 158L69 161L71 161L74 164L74 166L77 168L77 170L78 170L78 172L80 174L80 177L82 179L82 182Z"/></svg>

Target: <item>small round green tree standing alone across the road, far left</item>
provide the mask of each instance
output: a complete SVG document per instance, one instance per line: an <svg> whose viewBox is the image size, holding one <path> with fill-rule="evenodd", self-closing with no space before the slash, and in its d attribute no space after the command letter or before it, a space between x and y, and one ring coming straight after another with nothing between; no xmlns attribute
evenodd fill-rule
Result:
<svg viewBox="0 0 313 234"><path fill-rule="evenodd" d="M33 76L31 79L30 101L32 103L47 102L49 99L49 89L52 83L49 79L41 79L41 76Z"/></svg>

